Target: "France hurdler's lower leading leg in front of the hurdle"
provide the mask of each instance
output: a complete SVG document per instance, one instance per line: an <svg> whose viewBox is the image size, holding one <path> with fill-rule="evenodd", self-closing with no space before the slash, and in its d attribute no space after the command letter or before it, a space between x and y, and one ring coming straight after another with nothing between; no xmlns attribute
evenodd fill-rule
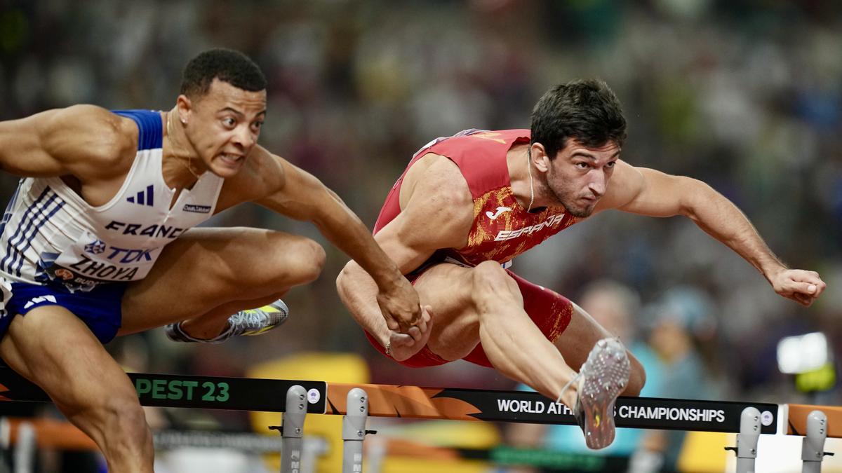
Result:
<svg viewBox="0 0 842 473"><path fill-rule="evenodd" d="M152 473L152 433L131 380L70 311L41 306L15 316L0 356L93 439L109 471Z"/></svg>

